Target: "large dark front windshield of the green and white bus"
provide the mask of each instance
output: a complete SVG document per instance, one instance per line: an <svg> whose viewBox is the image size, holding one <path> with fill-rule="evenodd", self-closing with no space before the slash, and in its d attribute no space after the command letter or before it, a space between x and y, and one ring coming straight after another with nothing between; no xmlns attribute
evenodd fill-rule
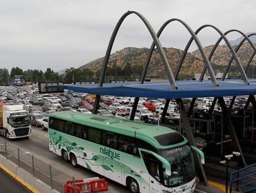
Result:
<svg viewBox="0 0 256 193"><path fill-rule="evenodd" d="M194 159L189 145L161 150L160 154L171 165L171 175L168 176L164 172L165 186L181 185L194 179Z"/></svg>

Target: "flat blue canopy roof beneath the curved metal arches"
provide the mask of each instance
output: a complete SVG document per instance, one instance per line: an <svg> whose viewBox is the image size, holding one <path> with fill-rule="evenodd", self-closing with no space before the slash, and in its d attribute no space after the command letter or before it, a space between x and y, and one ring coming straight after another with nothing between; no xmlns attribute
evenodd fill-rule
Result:
<svg viewBox="0 0 256 193"><path fill-rule="evenodd" d="M53 85L46 88L63 88L75 92L89 94L152 97L161 99L197 98L205 96L239 96L256 94L256 79L250 79L250 85L238 79L218 81L219 86L214 87L212 81L177 81L177 90L173 90L170 83L162 82L138 82L130 83L104 83L102 88L98 84Z"/></svg>

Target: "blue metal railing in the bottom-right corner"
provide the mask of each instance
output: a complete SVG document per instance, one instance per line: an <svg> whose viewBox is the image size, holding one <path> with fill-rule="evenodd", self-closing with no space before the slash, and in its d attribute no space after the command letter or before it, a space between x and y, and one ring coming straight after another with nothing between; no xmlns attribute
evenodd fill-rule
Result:
<svg viewBox="0 0 256 193"><path fill-rule="evenodd" d="M230 173L230 192L253 192L256 190L256 163Z"/></svg>

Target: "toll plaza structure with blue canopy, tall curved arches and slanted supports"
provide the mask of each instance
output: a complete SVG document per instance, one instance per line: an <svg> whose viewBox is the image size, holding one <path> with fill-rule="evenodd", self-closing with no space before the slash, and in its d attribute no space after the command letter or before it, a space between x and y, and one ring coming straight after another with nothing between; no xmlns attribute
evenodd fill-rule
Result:
<svg viewBox="0 0 256 193"><path fill-rule="evenodd" d="M116 35L118 33L118 30L120 26L122 25L122 22L125 21L126 17L128 17L130 14L136 14L136 16L139 17L141 21L145 24L145 27L149 31L149 33L152 36L153 42L151 45L151 48L149 50L149 53L147 55L147 59L145 61L145 65L143 68L143 72L140 76L140 81L138 82L131 82L131 83L104 83L105 80L105 74L107 70L107 64L109 61L109 57L111 54L111 49L113 47L113 43L116 39ZM183 56L181 57L181 60L179 61L179 64L175 70L175 72L172 72L171 65L169 61L167 60L167 57L165 55L165 52L163 50L163 47L161 45L161 42L159 41L159 37L161 36L161 33L165 29L167 25L169 25L172 22L179 22L183 27L185 27L188 32L191 34L191 39L188 41L188 44L185 47L185 50L183 52ZM212 28L217 33L219 33L220 38L218 39L217 43L214 45L214 48L210 52L210 55L207 56L205 54L205 51L203 50L203 46L201 45L201 42L199 41L198 37L196 36L201 30L204 28ZM241 43L234 49L232 48L232 45L228 41L226 35L230 32L238 32L241 34L244 39L241 41ZM248 106L250 103L252 104L252 114L254 117L254 110L256 107L255 103L255 94L256 94L256 80L255 79L248 79L246 72L249 68L250 63L253 61L253 57L255 56L256 48L255 45L250 41L249 37L253 36L255 34L249 34L246 36L243 32L240 32L239 30L228 30L227 32L223 33L221 30L216 28L215 26L211 25L204 25L201 26L198 30L195 32L186 24L184 21L181 21L180 19L170 19L166 21L160 30L158 30L158 33L156 33L150 23L143 17L142 14L134 11L128 11L125 14L122 15L120 20L118 21L116 28L113 30L113 34L111 36L111 39L109 41L109 45L107 48L106 55L104 57L104 61L102 63L102 72L100 75L100 79L98 83L91 83L91 84L81 84L81 83L75 83L73 85L64 85L63 83L43 83L41 84L39 90L41 89L41 92L60 92L61 90L73 90L76 92L86 92L89 94L96 94L95 98L95 104L93 113L97 112L98 105L100 102L100 95L113 95L113 96L132 96L136 97L134 100L134 107L131 111L131 120L134 120L136 108L138 105L138 100L140 97L151 97L151 98L160 98L160 99L166 99L165 102L165 108L163 110L162 118L165 118L165 114L167 112L168 105L170 103L170 99L175 99L176 103L179 104L180 108L180 114L181 119L183 122L183 128L185 130L186 136L188 138L188 141L191 145L196 145L194 140L194 134L193 131L190 128L190 117L192 116L192 112L194 109L194 104L197 98L200 97L214 97L214 100L212 101L210 110L208 112L208 118L212 116L212 113L214 112L214 105L215 103L219 103L219 107L221 108L221 119L224 120L222 123L225 122L226 130L230 133L230 136L232 138L232 144L233 148L236 152L241 153L241 162L244 166L246 166L246 159L244 158L244 154L241 150L241 145L239 143L239 139L237 137L237 132L234 128L234 125L232 123L230 110L232 109L232 105L235 103L236 96L242 96L242 95L248 95L248 101L246 101L246 105L244 107L245 110L248 109ZM232 54L232 57L230 58L230 62L226 65L226 69L223 71L223 77L221 80L218 80L215 76L215 72L212 69L212 65L210 64L210 60L212 58L212 55L214 54L214 51L217 48L217 45L221 41L225 41L226 45L228 45L228 48L230 50L230 53ZM199 81L177 81L177 78L179 76L179 72L182 68L183 61L185 59L185 55L188 53L188 49L190 48L190 45L192 41L195 41L196 45L199 48L199 51L201 52L201 56L203 58L204 67L201 72L201 77ZM248 63L246 66L241 65L241 61L237 57L237 52L239 48L241 47L242 43L244 41L248 41L250 43L252 49L254 50L252 56L250 57ZM149 66L149 61L152 56L152 52L154 52L154 48L157 48L164 68L165 72L167 74L167 81L163 82L146 82L145 76L147 72L147 68ZM239 79L226 79L226 74L228 73L228 70L230 68L230 65L232 61L235 61L235 65L237 67L237 72L239 74ZM203 76L205 72L208 72L210 75L209 80L203 80ZM224 97L225 96L231 96L232 100L230 101L229 106L227 107ZM185 98L192 98L192 101L190 103L190 107L188 109L185 108L185 105L183 103L182 99ZM196 119L194 119L195 121ZM252 121L254 123L254 121ZM254 128L254 127L253 127ZM252 128L252 143L254 142L253 139L253 128ZM205 176L205 171L203 168L203 165L201 165L199 161L199 155L194 154L195 162L196 162L196 169L197 174L199 176L199 180L207 184L207 179Z"/></svg>

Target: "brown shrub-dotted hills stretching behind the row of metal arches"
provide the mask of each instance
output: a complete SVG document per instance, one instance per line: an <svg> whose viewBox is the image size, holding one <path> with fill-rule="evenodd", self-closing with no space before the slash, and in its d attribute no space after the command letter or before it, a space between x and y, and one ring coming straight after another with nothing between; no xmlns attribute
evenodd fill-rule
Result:
<svg viewBox="0 0 256 193"><path fill-rule="evenodd" d="M207 55L210 54L213 46L214 45L210 45L204 48ZM183 54L183 50L175 48L164 48L164 50L167 55L167 59L171 65L172 72L175 72L176 67L179 64L179 60L181 59L181 56ZM131 76L132 74L140 74L143 65L145 64L148 52L148 48L124 48L122 50L114 52L109 57L107 74L111 76L120 76L120 74L127 74L127 71L129 71L129 75L127 76ZM239 52L237 52L237 56L241 60L242 65L247 64L251 54L253 54L253 49L250 47L249 43L244 43L244 45L242 45L239 49ZM214 72L223 72L223 69L228 64L230 57L231 54L228 47L226 45L219 45L211 59ZM103 60L104 57L96 59L82 65L80 69L82 70L84 68L89 68L90 70L93 70L93 72L95 72L96 76L99 76ZM255 60L256 57L253 60L254 63ZM127 65L129 65L129 68L126 68ZM183 62L180 74L193 76L194 73L201 73L203 65L204 64L202 61L201 53L199 52L199 50L195 50L194 52L188 53L185 57L185 61ZM235 68L232 69L233 71L235 71ZM232 73L232 69L230 73ZM152 59L149 63L147 75L157 77L166 76L163 62L161 61L160 54L156 49L152 54Z"/></svg>

